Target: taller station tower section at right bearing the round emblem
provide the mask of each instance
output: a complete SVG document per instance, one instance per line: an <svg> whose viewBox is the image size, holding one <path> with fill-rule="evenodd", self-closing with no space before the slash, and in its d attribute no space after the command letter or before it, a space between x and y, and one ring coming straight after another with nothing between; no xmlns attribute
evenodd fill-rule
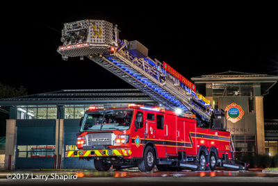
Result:
<svg viewBox="0 0 278 186"><path fill-rule="evenodd" d="M227 71L191 80L213 108L227 111L227 129L236 155L264 154L263 96L277 83L278 76Z"/></svg>

